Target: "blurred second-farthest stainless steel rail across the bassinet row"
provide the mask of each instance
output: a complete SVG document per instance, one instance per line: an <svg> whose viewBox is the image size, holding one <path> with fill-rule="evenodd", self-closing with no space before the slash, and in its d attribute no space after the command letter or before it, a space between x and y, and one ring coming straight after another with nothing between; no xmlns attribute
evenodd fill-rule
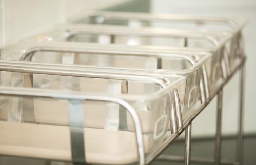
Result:
<svg viewBox="0 0 256 165"><path fill-rule="evenodd" d="M163 28L143 28L143 30L131 29L128 27L119 27L111 25L81 25L81 24L68 24L64 25L67 31L66 40L77 34L104 34L114 37L120 36L144 36L144 37L173 37L173 38L194 38L206 39L213 45L218 45L218 34L198 32L192 30L170 30ZM225 33L224 33L225 34Z"/></svg>

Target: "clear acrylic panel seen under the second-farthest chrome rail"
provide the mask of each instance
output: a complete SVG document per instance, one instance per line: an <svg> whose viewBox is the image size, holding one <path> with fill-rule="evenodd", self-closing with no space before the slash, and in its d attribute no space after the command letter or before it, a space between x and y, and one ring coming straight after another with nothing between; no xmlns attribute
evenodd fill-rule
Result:
<svg viewBox="0 0 256 165"><path fill-rule="evenodd" d="M149 34L150 35L150 34ZM202 45L203 48L212 48L214 44L205 38L189 38L180 36L136 36L136 35L105 35L105 34L89 34L77 33L67 38L73 42L92 42L101 44L127 44L127 45L154 45L154 46L177 46L183 47L188 44L188 47L195 48Z"/></svg>

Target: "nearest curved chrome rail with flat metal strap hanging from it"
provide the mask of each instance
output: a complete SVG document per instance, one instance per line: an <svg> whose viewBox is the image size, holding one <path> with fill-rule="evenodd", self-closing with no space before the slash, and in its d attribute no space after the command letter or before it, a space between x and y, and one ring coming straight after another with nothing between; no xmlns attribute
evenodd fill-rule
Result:
<svg viewBox="0 0 256 165"><path fill-rule="evenodd" d="M120 104L126 108L126 110L132 116L134 126L135 126L135 134L136 134L136 142L137 142L137 151L139 154L139 164L145 164L145 152L144 152L144 143L142 137L142 127L140 118L137 115L137 112L131 107L128 102L115 97L110 96L100 96L100 95L84 95L81 92L63 92L63 91L55 91L55 90L40 90L40 89L28 89L28 88L19 88L19 87L3 87L0 86L0 94L8 95L8 96L26 96L26 97L43 97L43 98L55 98L55 99L65 99L69 100L69 120L70 120L70 133L71 133L71 149L72 149L72 161L73 163L83 163L86 164L85 155L81 155L85 153L84 146L84 132L81 131L81 123L83 123L83 117L77 117L77 107L81 106L81 101L85 100L98 100L98 101L110 101ZM78 108L81 111L81 107ZM74 130L80 130L78 133L75 133ZM81 151L82 153L77 153L77 151Z"/></svg>

